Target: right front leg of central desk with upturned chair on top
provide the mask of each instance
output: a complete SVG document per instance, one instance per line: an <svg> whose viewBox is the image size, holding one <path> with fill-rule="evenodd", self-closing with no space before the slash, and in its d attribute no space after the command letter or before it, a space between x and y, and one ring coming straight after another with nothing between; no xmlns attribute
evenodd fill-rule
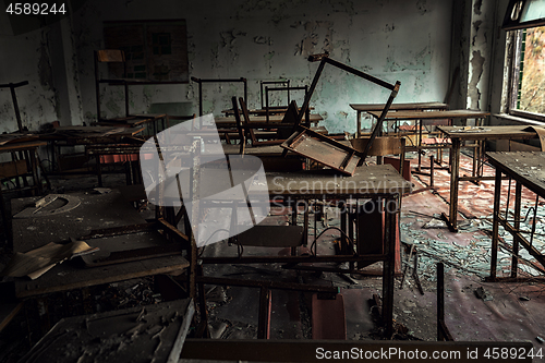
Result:
<svg viewBox="0 0 545 363"><path fill-rule="evenodd" d="M399 197L399 196L398 196ZM398 198L396 197L396 198ZM393 198L393 201L396 201ZM387 256L383 270L383 322L386 325L386 338L393 332L393 273L396 268L396 210L388 210L388 202L385 201L385 239L384 254ZM398 205L399 205L399 201Z"/></svg>

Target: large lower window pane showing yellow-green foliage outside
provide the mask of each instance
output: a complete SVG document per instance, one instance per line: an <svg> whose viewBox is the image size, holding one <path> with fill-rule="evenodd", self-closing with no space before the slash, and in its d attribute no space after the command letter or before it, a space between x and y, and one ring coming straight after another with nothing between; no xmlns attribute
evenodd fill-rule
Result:
<svg viewBox="0 0 545 363"><path fill-rule="evenodd" d="M517 109L545 113L545 26L524 29L520 49Z"/></svg>

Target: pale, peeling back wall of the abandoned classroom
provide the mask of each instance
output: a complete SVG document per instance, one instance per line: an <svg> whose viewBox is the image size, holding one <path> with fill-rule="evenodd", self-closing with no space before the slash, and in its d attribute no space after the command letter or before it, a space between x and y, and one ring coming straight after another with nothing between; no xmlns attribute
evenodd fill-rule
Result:
<svg viewBox="0 0 545 363"><path fill-rule="evenodd" d="M93 50L104 48L102 22L185 19L191 75L246 77L251 108L259 105L262 80L290 78L293 85L310 85L317 63L306 61L306 57L325 50L330 58L379 78L390 83L401 81L396 101L443 101L451 73L451 0L87 1L61 27L64 39L49 40L60 43L68 52L73 47L76 56L74 64L53 64L59 85L40 83L40 64L45 62L39 49L46 44L47 53L48 29L23 37L0 37L0 47L9 45L14 49L9 55L2 51L1 64L17 66L17 72L9 72L10 77L0 73L0 83L25 77L33 81L35 95L22 94L26 98L25 118L32 124L56 117L63 124L93 121L96 119ZM71 57L64 59L70 63ZM56 87L63 84L71 87L71 93L56 97ZM232 86L207 85L205 110L219 114L229 107L235 92ZM311 106L324 116L324 124L330 132L353 132L355 112L349 104L384 102L388 95L388 90L377 85L327 65ZM7 96L8 93L0 92L2 120L9 116ZM110 87L104 96L102 108L108 116L122 113L120 88ZM147 111L154 104L191 102L196 112L196 100L194 83L132 87L131 111ZM66 109L65 102L70 104L70 114L61 111ZM301 98L298 104L302 104Z"/></svg>

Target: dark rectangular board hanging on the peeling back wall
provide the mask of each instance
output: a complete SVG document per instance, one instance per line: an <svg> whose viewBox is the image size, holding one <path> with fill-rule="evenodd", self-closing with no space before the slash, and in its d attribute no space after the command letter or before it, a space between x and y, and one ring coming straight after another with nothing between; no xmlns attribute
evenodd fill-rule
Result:
<svg viewBox="0 0 545 363"><path fill-rule="evenodd" d="M185 20L110 21L104 23L106 49L125 53L123 64L109 64L112 78L145 83L187 83Z"/></svg>

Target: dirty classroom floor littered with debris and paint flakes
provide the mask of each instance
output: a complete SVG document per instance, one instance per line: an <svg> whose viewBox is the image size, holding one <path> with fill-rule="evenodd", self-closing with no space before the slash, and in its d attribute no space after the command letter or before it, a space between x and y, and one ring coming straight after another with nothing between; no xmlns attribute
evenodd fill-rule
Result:
<svg viewBox="0 0 545 363"><path fill-rule="evenodd" d="M409 156L410 158L410 156ZM445 156L447 161L447 156ZM411 159L412 166L416 159ZM446 165L446 164L444 164ZM427 158L423 158L427 167ZM471 172L471 158L462 156L462 172ZM424 169L426 170L426 169ZM485 166L485 174L493 174L493 169ZM427 186L427 176L413 174L414 190ZM123 178L105 177L105 186L121 185ZM545 286L543 274L535 268L535 261L521 251L519 257L519 276L530 278L530 282L485 282L489 275L491 231L493 213L494 182L483 181L479 185L470 182L460 184L459 229L450 232L438 218L448 211L450 174L445 169L435 170L435 189L403 197L400 214L400 247L402 265L396 277L395 319L398 329L393 339L412 339L434 341L437 339L436 301L437 273L436 264L445 264L445 319L455 340L458 341L532 341L535 348L542 348L545 338ZM504 182L502 203L508 195L508 182ZM96 186L96 179L57 180L56 192L69 192L82 187ZM511 190L510 208L512 209L513 187ZM535 221L536 235L534 245L545 250L545 209L543 201L537 201L537 213L533 218L535 196L523 190L523 211L528 218L522 223L526 230ZM326 208L327 209L327 208ZM312 217L312 216L311 216ZM283 219L282 219L283 218ZM279 214L269 222L281 223L286 216ZM300 216L302 221L302 216ZM310 239L319 234L327 227L339 225L335 210L326 210L314 223L311 218ZM500 230L502 240L498 253L498 276L510 273L511 254L508 245L512 241L509 233ZM332 254L339 232L335 229L326 231L319 239L318 253ZM409 255L413 253L411 261ZM281 249L245 250L244 254L288 254ZM204 251L205 256L235 255L237 246L216 243ZM414 261L417 258L416 274ZM2 262L0 262L1 264ZM341 266L342 267L342 266ZM272 279L279 281L327 285L340 288L344 300L347 338L350 340L383 339L376 324L376 306L373 295L380 295L382 279L377 277L379 265L372 265L363 275L339 275L332 273L317 274L282 268L280 265L206 266L206 276L218 276L240 279ZM373 276L375 275L375 276ZM403 277L404 275L404 277ZM417 277L417 278L416 278ZM402 286L401 282L403 281ZM419 282L422 292L419 288ZM126 281L119 286L106 287L104 291L95 291L97 301L111 299L113 306L122 308L138 299L145 303L160 301L149 287L150 281ZM137 288L134 288L137 287ZM136 293L133 293L133 290ZM255 338L257 335L259 291L252 288L206 286L207 308L209 312L209 330L213 337L223 339ZM63 298L66 299L65 297ZM76 301L83 298L74 297ZM78 300L80 299L80 300ZM80 302L78 302L80 303ZM104 307L104 306L102 306ZM95 308L102 308L97 303ZM80 314L85 310L80 308ZM272 291L271 338L311 339L311 295L299 292ZM26 320L27 322L27 320ZM14 327L0 334L0 362L14 362L16 358L15 340L27 339L25 319L14 320ZM21 343L20 343L21 346ZM8 351L15 351L12 354Z"/></svg>

